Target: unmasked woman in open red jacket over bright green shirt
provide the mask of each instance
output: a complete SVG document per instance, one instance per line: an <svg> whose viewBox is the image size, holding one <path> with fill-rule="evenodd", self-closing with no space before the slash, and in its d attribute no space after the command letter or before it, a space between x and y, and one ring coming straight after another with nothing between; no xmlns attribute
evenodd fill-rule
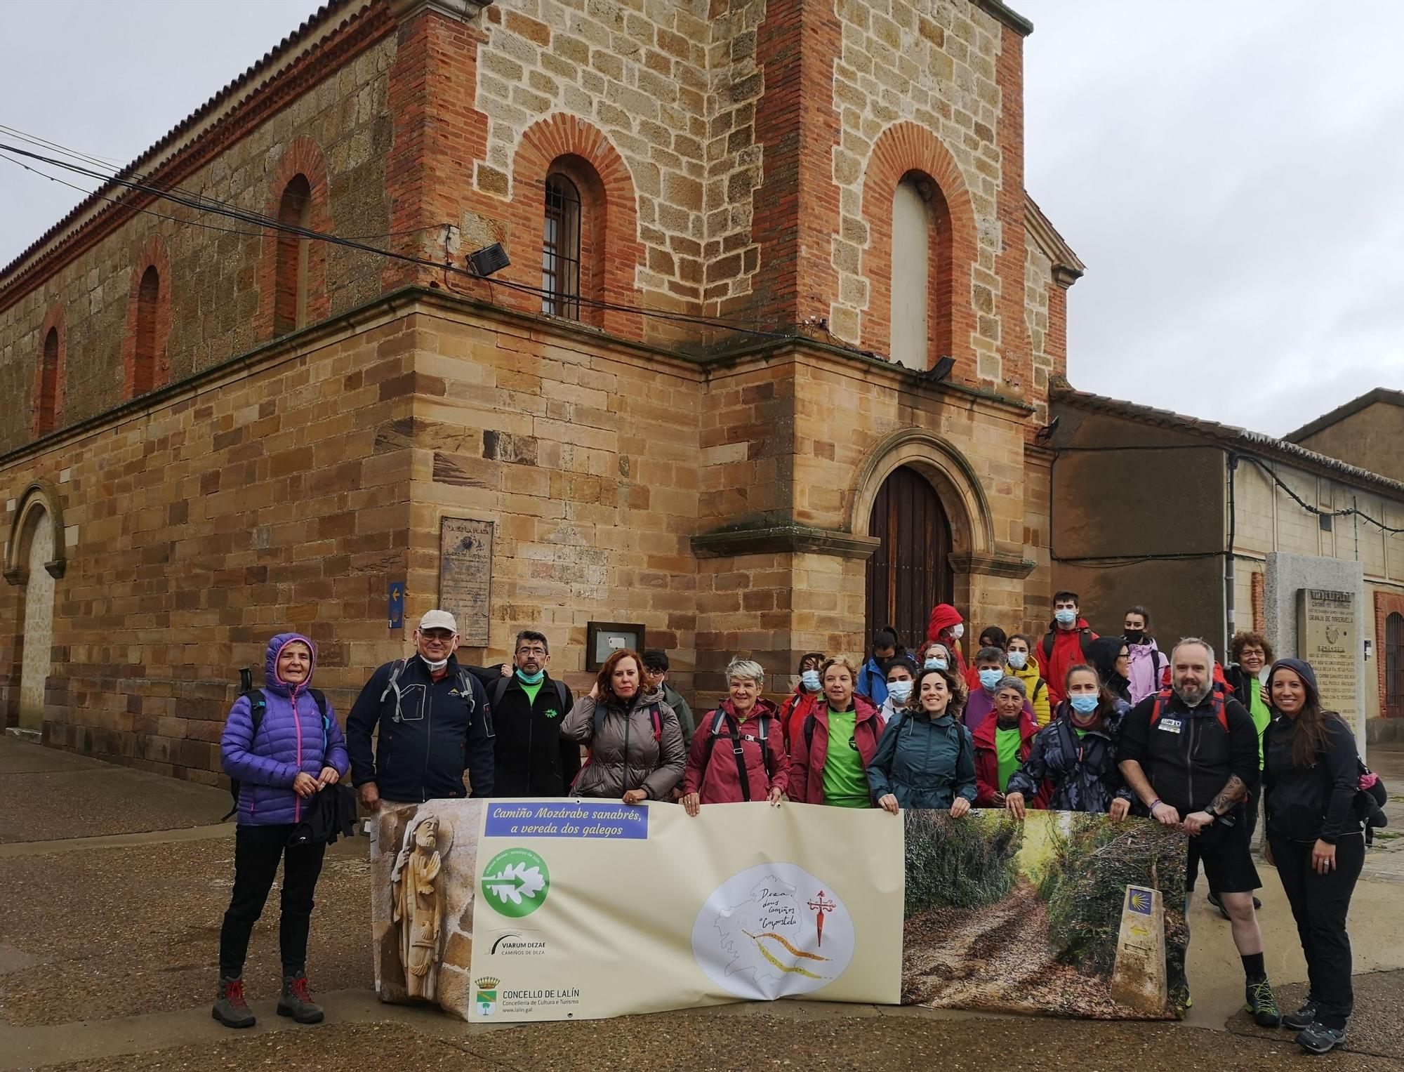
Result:
<svg viewBox="0 0 1404 1072"><path fill-rule="evenodd" d="M870 808L866 768L878 752L882 716L854 693L858 668L845 655L824 659L823 699L790 724L789 797L802 804Z"/></svg>

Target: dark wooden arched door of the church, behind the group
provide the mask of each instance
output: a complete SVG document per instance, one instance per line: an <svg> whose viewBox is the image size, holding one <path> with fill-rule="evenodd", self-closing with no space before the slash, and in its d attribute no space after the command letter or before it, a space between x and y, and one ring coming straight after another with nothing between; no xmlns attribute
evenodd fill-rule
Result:
<svg viewBox="0 0 1404 1072"><path fill-rule="evenodd" d="M927 636L936 603L952 602L951 522L931 483L899 466L878 488L868 535L880 540L868 560L866 644L893 626L910 648Z"/></svg>

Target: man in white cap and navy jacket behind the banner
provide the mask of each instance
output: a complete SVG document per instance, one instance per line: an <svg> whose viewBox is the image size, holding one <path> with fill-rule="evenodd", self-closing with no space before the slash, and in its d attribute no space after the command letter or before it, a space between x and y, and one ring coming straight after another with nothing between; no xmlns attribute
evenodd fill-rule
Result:
<svg viewBox="0 0 1404 1072"><path fill-rule="evenodd" d="M459 666L458 623L430 610L414 630L416 654L386 662L347 716L351 783L371 811L493 791L493 720L482 683ZM379 727L372 748L371 734ZM463 784L468 772L469 786Z"/></svg>

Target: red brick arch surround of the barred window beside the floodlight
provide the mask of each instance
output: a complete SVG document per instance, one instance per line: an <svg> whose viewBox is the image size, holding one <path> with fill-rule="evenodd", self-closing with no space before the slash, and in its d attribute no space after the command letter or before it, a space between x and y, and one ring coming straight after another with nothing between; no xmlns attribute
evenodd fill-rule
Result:
<svg viewBox="0 0 1404 1072"><path fill-rule="evenodd" d="M639 241L633 177L623 157L598 128L556 112L526 129L512 163L512 201L508 210L508 269L514 282L541 286L541 239L546 175L562 161L580 187L581 297L616 304L639 304L635 268L643 260ZM560 167L560 164L557 164ZM539 299L534 303L541 309ZM581 320L605 331L635 338L639 314L600 309L581 302Z"/></svg>

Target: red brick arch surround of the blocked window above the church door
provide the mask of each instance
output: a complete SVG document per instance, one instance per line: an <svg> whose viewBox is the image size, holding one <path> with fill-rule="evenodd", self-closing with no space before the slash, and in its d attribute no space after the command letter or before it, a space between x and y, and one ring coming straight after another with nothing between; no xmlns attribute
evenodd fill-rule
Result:
<svg viewBox="0 0 1404 1072"><path fill-rule="evenodd" d="M892 202L897 184L917 173L936 194L932 210L927 352L949 354L958 375L976 380L970 335L976 328L970 297L970 271L977 257L974 208L955 157L924 126L900 122L889 126L873 145L863 178L863 220L868 248L862 272L868 278L868 309L862 316L863 345L878 354L892 349Z"/></svg>

